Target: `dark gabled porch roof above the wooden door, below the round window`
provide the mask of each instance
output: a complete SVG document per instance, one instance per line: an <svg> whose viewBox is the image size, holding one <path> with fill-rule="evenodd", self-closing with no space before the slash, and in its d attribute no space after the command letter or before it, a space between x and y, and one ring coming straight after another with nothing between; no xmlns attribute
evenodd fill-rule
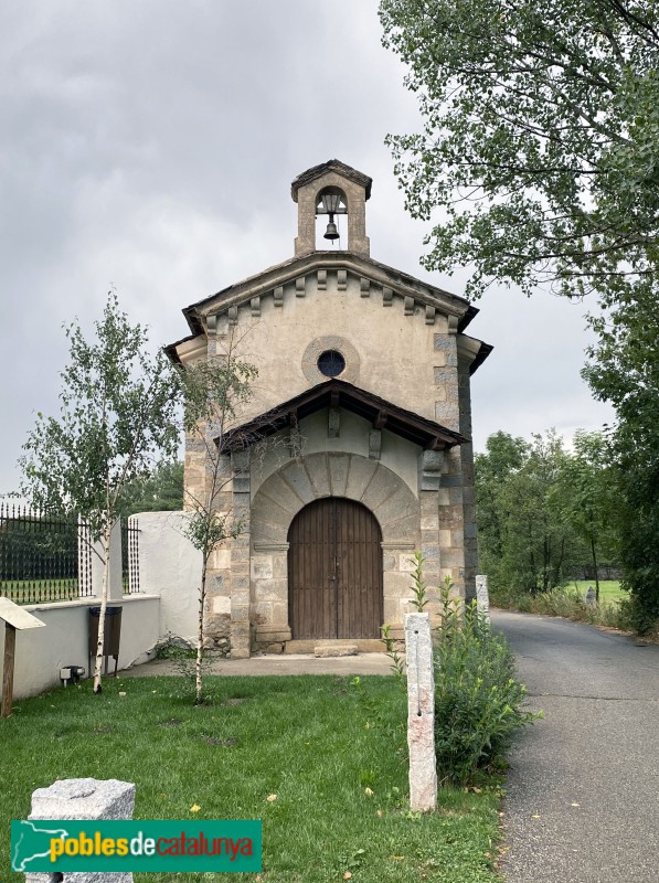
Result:
<svg viewBox="0 0 659 883"><path fill-rule="evenodd" d="M222 439L222 450L243 450L279 429L297 426L304 417L325 407L343 407L370 421L375 429L389 429L429 450L444 450L469 440L434 421L419 417L418 414L405 411L351 383L333 379L323 381L248 423L234 427Z"/></svg>

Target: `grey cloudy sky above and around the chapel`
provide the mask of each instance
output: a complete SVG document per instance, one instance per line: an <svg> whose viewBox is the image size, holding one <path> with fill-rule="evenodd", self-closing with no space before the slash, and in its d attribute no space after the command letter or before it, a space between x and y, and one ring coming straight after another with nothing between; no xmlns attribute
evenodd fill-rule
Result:
<svg viewBox="0 0 659 883"><path fill-rule="evenodd" d="M372 256L418 266L384 147L419 126L376 0L7 0L0 7L0 493L38 411L55 414L62 325L91 328L115 286L156 343L181 308L293 255L290 181L331 158L373 178ZM503 288L470 333L477 449L610 419L578 370L584 307Z"/></svg>

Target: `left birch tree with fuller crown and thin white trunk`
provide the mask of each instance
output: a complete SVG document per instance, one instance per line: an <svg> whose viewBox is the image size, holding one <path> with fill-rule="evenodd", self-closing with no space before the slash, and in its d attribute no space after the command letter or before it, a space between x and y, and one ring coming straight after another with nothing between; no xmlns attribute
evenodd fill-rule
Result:
<svg viewBox="0 0 659 883"><path fill-rule="evenodd" d="M22 491L47 512L81 514L103 562L94 692L102 692L109 549L123 488L148 475L157 455L178 449L180 380L164 353L148 353L148 332L130 325L114 291L87 341L66 328L70 363L62 372L60 416L38 414L23 445Z"/></svg>

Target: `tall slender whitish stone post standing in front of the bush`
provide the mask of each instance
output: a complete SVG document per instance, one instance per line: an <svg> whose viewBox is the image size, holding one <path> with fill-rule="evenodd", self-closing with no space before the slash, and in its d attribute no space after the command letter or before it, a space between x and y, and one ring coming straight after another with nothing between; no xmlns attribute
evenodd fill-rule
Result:
<svg viewBox="0 0 659 883"><path fill-rule="evenodd" d="M435 757L435 674L428 614L405 616L407 663L407 745L410 747L410 809L437 807Z"/></svg>

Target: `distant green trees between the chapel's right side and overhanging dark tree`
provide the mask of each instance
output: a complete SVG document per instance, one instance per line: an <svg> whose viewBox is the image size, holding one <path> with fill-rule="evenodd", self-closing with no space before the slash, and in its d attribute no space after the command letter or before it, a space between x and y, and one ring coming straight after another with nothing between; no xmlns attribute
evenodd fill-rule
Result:
<svg viewBox="0 0 659 883"><path fill-rule="evenodd" d="M607 437L491 435L475 460L480 570L495 595L536 594L619 561L619 476Z"/></svg>

